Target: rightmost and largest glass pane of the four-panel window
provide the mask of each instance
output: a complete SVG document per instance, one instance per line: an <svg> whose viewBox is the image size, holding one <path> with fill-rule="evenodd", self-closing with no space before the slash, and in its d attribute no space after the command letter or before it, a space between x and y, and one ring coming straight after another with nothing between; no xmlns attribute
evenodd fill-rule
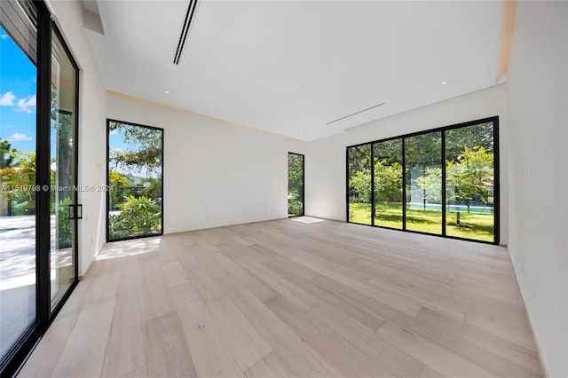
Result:
<svg viewBox="0 0 568 378"><path fill-rule="evenodd" d="M494 240L493 122L446 131L446 235Z"/></svg>

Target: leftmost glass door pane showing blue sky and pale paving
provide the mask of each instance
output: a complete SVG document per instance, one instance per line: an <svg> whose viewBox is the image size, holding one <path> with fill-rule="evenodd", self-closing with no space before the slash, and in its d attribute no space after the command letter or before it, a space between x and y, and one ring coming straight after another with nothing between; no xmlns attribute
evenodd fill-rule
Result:
<svg viewBox="0 0 568 378"><path fill-rule="evenodd" d="M1 359L36 319L37 71L4 28L0 36Z"/></svg>

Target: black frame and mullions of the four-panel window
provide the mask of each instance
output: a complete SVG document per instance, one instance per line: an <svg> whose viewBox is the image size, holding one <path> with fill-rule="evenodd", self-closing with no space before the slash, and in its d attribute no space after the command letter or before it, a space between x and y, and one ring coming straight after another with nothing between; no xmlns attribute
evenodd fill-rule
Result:
<svg viewBox="0 0 568 378"><path fill-rule="evenodd" d="M483 123L488 123L488 122L492 122L493 123L493 241L486 241L486 240L476 240L476 239L467 239L467 238L461 238L458 236L451 236L451 235L447 235L446 234L446 131L448 130L454 130L454 129L461 129L461 128L466 128L466 127L470 127L470 126L476 126L479 124L483 124ZM420 136L420 135L424 135L424 134L429 134L432 132L440 132L441 134L441 146L442 146L442 157L441 157L441 167L442 167L442 201L441 201L441 207L442 207L442 233L441 234L437 234L437 233L430 233L430 232L421 232L421 231L414 231L414 230L407 230L406 229L406 138L412 138L415 136ZM350 195L349 195L349 178L350 178L350 170L349 170L349 150L350 148L353 147L359 147L359 146L370 146L371 147L371 159L374 158L373 156L373 151L374 151L374 146L376 143L381 143L381 142L386 142L386 141L390 141L390 140L394 140L394 139L401 139L401 144L402 144L402 172L403 172L403 183L402 183L402 188L403 188L403 203L402 203L402 209L403 209L403 226L402 229L398 229L398 228L392 228L392 227L386 227L386 226L382 226L382 225L375 225L375 202L374 202L374 198L371 201L371 224L361 224L361 223L357 223L357 222L351 222L350 221ZM384 228L384 229L389 229L389 230L395 230L395 231L399 231L399 232L413 232L413 233L420 233L420 234L426 234L426 235L432 235L432 236L438 236L441 238L447 238L447 239L455 239L455 240L467 240L467 241L472 241L472 242L477 242L477 243L484 243L484 244L493 244L493 245L499 245L500 240L501 240L501 190L500 190L500 177L501 177L501 171L500 171L500 145L499 145L499 115L494 115L491 117L486 117L486 118L481 118L478 120L474 120L474 121L468 121L468 122L461 122L461 123L455 123L452 125L448 125L448 126L443 126L443 127L439 127L439 128L435 128L435 129L429 129L429 130L422 130L422 131L416 131L413 133L408 133L408 134L404 134L404 135L400 135L400 136L396 136L396 137L389 137L389 138L382 138L382 139L376 139L376 140L372 140L370 142L365 142L365 143L359 143L357 145L352 145L352 146L346 146L345 147L345 204L346 204L346 214L345 214L345 219L346 219L346 223L351 223L351 224L360 224L360 225L367 225L367 226L372 226L372 227L378 227L378 228ZM373 173L374 173L374 169L371 169L371 193L374 194L375 193L375 180L373 177ZM374 195L373 195L374 197Z"/></svg>

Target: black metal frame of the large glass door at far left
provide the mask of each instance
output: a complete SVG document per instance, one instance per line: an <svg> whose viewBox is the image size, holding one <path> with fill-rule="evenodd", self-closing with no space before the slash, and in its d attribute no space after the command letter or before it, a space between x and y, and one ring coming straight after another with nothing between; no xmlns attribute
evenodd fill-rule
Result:
<svg viewBox="0 0 568 378"><path fill-rule="evenodd" d="M29 20L36 27L36 59L30 55L28 48L20 49L36 64L36 185L51 187L51 35L55 34L63 47L72 66L75 68L75 148L74 164L79 169L79 108L80 69L75 56L69 50L67 41L51 18L51 12L42 0L19 0ZM5 30L5 29L4 29ZM9 30L5 30L10 34ZM12 40L20 45L21 40ZM78 186L78 174L75 174L73 185ZM78 201L78 199L77 199ZM36 320L20 335L20 338L6 351L0 359L0 376L13 376L19 373L32 350L39 343L45 332L56 319L59 311L67 302L69 296L79 283L79 239L78 227L74 227L76 247L73 254L75 259L74 280L59 302L51 307L50 283L50 251L51 251L51 191L36 192ZM74 205L75 207L77 205Z"/></svg>

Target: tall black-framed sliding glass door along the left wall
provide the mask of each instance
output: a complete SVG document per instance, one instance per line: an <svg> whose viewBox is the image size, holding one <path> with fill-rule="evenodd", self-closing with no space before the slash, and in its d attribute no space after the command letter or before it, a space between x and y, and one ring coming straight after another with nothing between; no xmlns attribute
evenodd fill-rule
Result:
<svg viewBox="0 0 568 378"><path fill-rule="evenodd" d="M0 374L77 283L78 69L41 2L0 3Z"/></svg>

